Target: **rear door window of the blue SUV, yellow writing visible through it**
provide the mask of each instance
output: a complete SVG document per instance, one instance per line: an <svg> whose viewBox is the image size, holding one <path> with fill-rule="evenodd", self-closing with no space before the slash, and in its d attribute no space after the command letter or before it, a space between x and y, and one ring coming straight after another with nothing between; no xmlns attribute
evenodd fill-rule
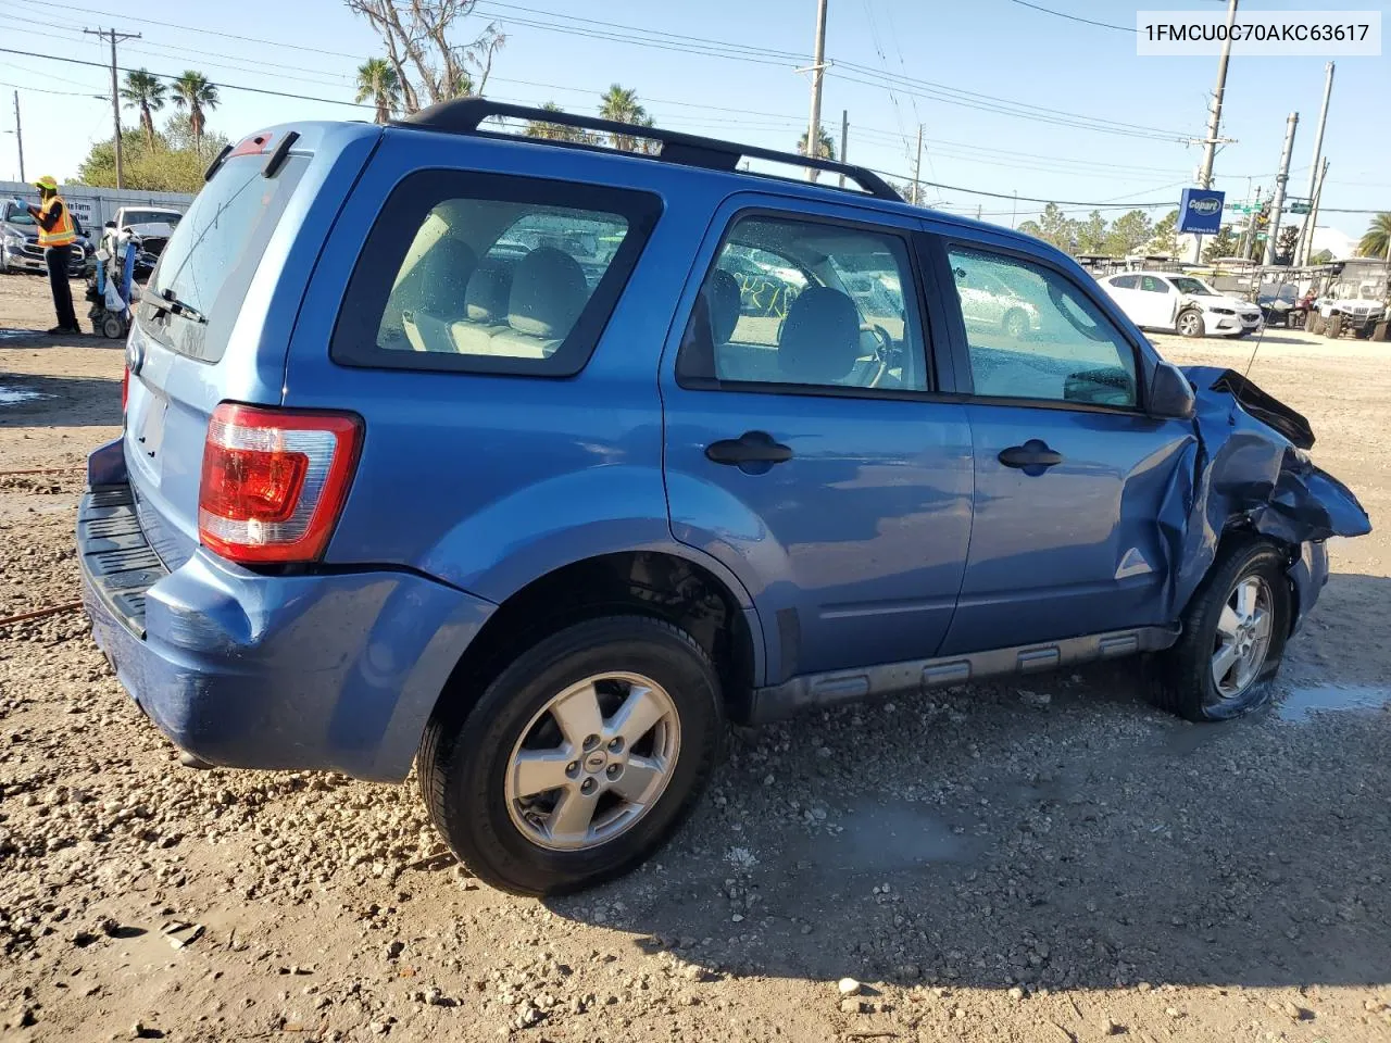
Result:
<svg viewBox="0 0 1391 1043"><path fill-rule="evenodd" d="M925 391L907 242L782 217L739 218L701 285L677 378Z"/></svg>

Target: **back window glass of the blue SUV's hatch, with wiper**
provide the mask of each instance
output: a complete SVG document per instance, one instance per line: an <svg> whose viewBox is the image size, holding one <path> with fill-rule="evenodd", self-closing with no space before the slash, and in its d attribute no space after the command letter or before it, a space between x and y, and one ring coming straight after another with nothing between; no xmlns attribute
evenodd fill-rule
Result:
<svg viewBox="0 0 1391 1043"><path fill-rule="evenodd" d="M227 160L170 235L138 310L142 328L166 348L203 362L223 357L256 266L309 157L291 156L273 178L262 175L264 163L264 156ZM207 321L154 306L170 295Z"/></svg>

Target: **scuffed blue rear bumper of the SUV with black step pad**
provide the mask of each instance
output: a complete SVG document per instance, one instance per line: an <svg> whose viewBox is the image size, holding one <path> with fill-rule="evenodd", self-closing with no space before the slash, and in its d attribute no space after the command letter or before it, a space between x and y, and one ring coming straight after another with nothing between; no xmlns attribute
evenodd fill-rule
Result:
<svg viewBox="0 0 1391 1043"><path fill-rule="evenodd" d="M262 576L203 551L167 572L122 496L107 484L82 499L82 599L160 731L228 768L409 773L491 604L413 573Z"/></svg>

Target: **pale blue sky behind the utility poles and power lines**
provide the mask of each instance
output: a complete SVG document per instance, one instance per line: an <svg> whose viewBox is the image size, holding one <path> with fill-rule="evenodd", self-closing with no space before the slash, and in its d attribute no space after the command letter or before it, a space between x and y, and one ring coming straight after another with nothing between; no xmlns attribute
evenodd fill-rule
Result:
<svg viewBox="0 0 1391 1043"><path fill-rule="evenodd" d="M1038 0L1114 25L1135 6L1116 0ZM1221 0L1145 0L1145 10L1221 10ZM381 54L371 28L342 0L198 0L152 21L147 0L0 0L0 47L108 63L108 45L83 28L115 26L140 39L120 47L122 68L177 75L192 68L223 85L210 127L234 140L295 120L360 120L355 70ZM1263 0L1242 10L1380 10L1391 0ZM460 42L497 22L506 45L487 93L508 102L593 113L612 82L637 90L661 127L794 150L807 128L815 0L479 0ZM570 11L577 14L569 14ZM284 42L284 43L280 43ZM924 127L925 202L1002 224L1067 200L1081 217L1129 203L1177 206L1202 160L1216 57L1136 57L1135 35L1032 10L1018 0L829 0L822 121L837 140L849 111L849 159L911 177ZM1228 199L1269 196L1285 118L1301 121L1291 195L1306 195L1327 58L1234 57L1227 78L1214 188ZM1323 154L1330 160L1320 225L1359 236L1370 214L1391 210L1391 56L1335 58ZM108 72L0 53L0 92L18 90L25 172L72 177L93 142L110 139ZM303 95L277 97L238 88ZM13 131L0 99L0 129ZM1085 117L1081 121L1078 117ZM136 124L134 113L125 125ZM1097 125L1097 121L1104 121ZM0 134L0 178L18 175L13 134ZM996 195L983 195L996 193ZM1015 204L1014 193L1021 197ZM1003 197L1002 197L1003 196Z"/></svg>

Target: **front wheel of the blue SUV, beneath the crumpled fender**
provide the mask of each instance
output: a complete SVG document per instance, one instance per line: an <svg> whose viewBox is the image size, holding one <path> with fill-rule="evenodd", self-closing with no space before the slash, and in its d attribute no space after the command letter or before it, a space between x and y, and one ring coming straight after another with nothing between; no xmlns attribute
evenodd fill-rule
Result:
<svg viewBox="0 0 1391 1043"><path fill-rule="evenodd" d="M1178 642L1150 663L1150 697L1188 720L1231 720L1270 700L1289 636L1285 559L1251 540L1217 559L1184 612Z"/></svg>

